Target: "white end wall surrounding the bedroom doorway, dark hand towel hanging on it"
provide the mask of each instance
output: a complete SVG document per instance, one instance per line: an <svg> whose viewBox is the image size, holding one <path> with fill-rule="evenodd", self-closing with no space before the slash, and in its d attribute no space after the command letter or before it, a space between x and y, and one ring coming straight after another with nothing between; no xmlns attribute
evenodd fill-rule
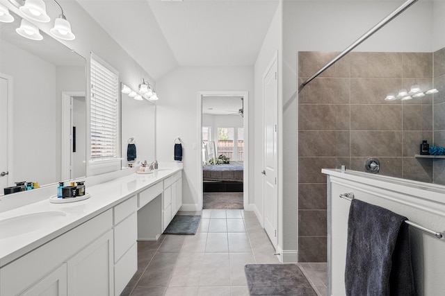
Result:
<svg viewBox="0 0 445 296"><path fill-rule="evenodd" d="M202 114L198 92L248 91L249 110L254 110L253 77L253 67L179 67L156 81L156 92L161 94L156 103L157 157L159 162L172 161L175 138L181 138L184 163L182 209L197 209L198 197L202 196L199 192L202 167L198 162L198 153L201 153L198 117ZM250 143L254 143L256 130L253 117L249 115ZM194 143L196 149L193 149ZM254 146L250 147L249 163L252 164ZM251 168L249 171L253 172ZM250 184L249 191L253 192L253 184Z"/></svg>

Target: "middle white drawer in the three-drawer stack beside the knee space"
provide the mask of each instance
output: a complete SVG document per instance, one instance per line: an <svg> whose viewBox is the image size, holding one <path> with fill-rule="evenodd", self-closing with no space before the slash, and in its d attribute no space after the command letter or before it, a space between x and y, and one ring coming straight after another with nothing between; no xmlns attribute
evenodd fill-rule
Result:
<svg viewBox="0 0 445 296"><path fill-rule="evenodd" d="M138 239L138 216L136 212L114 227L114 261L127 252Z"/></svg>

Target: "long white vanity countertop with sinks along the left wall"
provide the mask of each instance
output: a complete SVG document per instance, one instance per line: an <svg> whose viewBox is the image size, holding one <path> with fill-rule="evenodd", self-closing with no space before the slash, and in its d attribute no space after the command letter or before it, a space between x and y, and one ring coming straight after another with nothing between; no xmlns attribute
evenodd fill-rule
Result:
<svg viewBox="0 0 445 296"><path fill-rule="evenodd" d="M91 197L86 200L54 204L49 202L50 196L48 196L48 198L39 202L33 202L23 207L0 213L0 221L48 211L57 212L56 214L58 214L58 216L54 217L56 223L47 224L44 227L33 229L31 232L24 234L6 238L1 238L0 236L0 267L102 212L111 209L116 204L123 202L136 193L161 182L165 178L170 177L170 175L177 173L177 171L181 171L181 169L181 166L172 166L161 168L157 173L133 173L102 184L86 186L86 192L91 195ZM24 220L24 222L26 222L26 220ZM10 227L10 225L14 225L14 223L8 224L8 227ZM33 225L29 225L29 227L29 229L32 229ZM11 229L7 230L8 232L13 232ZM0 232L1 231L2 229L0 229ZM6 229L3 229L3 231L6 231Z"/></svg>

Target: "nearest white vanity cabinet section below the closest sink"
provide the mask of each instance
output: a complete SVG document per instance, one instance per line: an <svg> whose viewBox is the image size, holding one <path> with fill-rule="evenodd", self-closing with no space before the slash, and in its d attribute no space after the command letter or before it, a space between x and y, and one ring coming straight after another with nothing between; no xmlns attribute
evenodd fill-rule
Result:
<svg viewBox="0 0 445 296"><path fill-rule="evenodd" d="M3 266L0 295L114 295L112 226L109 209Z"/></svg>

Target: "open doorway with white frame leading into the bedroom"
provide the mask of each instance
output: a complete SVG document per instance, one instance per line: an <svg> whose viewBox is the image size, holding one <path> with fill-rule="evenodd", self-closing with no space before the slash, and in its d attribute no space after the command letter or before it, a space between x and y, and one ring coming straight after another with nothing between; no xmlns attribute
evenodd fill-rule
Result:
<svg viewBox="0 0 445 296"><path fill-rule="evenodd" d="M200 92L200 208L248 209L248 92Z"/></svg>

